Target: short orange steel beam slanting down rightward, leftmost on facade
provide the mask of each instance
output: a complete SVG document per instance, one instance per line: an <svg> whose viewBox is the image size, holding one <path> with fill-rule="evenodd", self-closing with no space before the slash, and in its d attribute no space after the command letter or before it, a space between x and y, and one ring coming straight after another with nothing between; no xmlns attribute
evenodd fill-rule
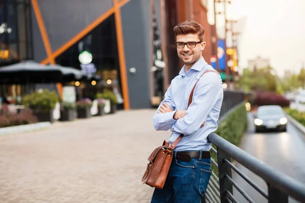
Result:
<svg viewBox="0 0 305 203"><path fill-rule="evenodd" d="M50 46L48 34L47 34L47 31L46 31L43 19L41 17L41 13L40 13L40 9L39 9L37 0L32 0L32 5L33 5L33 9L34 9L35 16L36 16L36 19L37 19L38 27L40 29L43 44L44 44L46 52L47 52L48 61L52 64L55 64L54 57L52 56L52 49L51 49L51 46Z"/></svg>

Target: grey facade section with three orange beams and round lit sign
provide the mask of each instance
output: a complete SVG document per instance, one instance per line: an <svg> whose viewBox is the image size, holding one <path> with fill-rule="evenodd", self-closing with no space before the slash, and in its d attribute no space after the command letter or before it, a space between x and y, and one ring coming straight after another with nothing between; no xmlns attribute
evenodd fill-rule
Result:
<svg viewBox="0 0 305 203"><path fill-rule="evenodd" d="M150 107L152 13L154 7L160 20L159 0L33 0L32 5L36 61L93 71L104 83L117 81L125 109ZM83 51L92 54L91 66L80 64Z"/></svg>

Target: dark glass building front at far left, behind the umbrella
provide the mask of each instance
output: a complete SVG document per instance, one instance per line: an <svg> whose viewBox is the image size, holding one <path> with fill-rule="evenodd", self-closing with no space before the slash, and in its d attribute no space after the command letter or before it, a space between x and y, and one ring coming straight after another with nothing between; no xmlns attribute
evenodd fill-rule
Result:
<svg viewBox="0 0 305 203"><path fill-rule="evenodd" d="M0 0L0 68L34 58L31 11L30 0ZM0 84L0 103L7 95L20 96L22 89Z"/></svg>

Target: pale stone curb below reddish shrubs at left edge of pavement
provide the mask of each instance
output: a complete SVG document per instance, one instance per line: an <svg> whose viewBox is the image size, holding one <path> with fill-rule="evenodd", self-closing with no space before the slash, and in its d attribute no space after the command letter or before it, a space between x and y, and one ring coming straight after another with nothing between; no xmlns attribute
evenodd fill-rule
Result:
<svg viewBox="0 0 305 203"><path fill-rule="evenodd" d="M2 128L0 128L0 136L4 136L6 134L14 134L14 133L18 133L18 132L39 130L39 129L47 128L49 126L51 126L50 122L40 122L40 123L33 123L33 124L26 124L26 125L2 127Z"/></svg>

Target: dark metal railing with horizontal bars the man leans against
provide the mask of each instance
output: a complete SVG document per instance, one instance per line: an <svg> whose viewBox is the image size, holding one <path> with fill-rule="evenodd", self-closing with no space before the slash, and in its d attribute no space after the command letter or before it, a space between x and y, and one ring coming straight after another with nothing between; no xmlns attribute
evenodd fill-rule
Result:
<svg viewBox="0 0 305 203"><path fill-rule="evenodd" d="M246 198L248 202L255 202L249 194L236 184L232 179L232 170L243 178L249 185L256 189L269 203L287 203L291 196L300 202L305 202L305 185L291 177L266 165L254 156L229 143L216 133L210 133L208 140L217 147L211 148L212 153L217 154L217 162L211 158L211 163L218 168L218 175L212 172L207 190L202 202L238 202L233 195L233 187ZM268 186L264 191L243 174L231 163L231 158L247 167L250 171L261 177Z"/></svg>

